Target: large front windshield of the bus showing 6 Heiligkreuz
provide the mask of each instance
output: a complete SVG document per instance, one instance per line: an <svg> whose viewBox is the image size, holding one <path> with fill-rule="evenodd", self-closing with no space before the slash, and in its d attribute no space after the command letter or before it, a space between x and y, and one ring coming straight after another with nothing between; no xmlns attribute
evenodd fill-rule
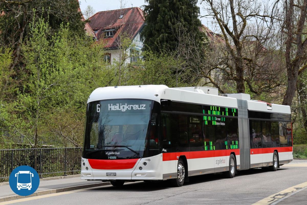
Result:
<svg viewBox="0 0 307 205"><path fill-rule="evenodd" d="M84 157L141 158L147 146L152 101L101 100L88 103Z"/></svg>

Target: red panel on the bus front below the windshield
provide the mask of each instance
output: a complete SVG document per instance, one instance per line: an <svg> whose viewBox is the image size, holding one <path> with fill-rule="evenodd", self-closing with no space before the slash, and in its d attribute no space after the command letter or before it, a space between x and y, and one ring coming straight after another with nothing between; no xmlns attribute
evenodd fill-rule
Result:
<svg viewBox="0 0 307 205"><path fill-rule="evenodd" d="M88 163L93 169L131 169L138 159L127 160L94 160L88 159Z"/></svg>

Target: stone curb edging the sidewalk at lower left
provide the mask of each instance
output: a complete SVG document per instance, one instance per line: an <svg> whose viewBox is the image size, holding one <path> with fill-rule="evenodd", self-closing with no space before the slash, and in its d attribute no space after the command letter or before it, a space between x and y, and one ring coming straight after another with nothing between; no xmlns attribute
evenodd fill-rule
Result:
<svg viewBox="0 0 307 205"><path fill-rule="evenodd" d="M57 188L57 189L48 189L43 191L37 191L29 196L20 196L20 195L11 195L11 196L3 196L0 197L0 202L15 200L15 199L22 199L22 198L28 198L32 196L41 196L46 194L53 194L53 193L59 193L64 191L72 191L77 189L85 189L85 188L93 188L93 187L100 187L100 186L107 186L110 185L110 182L99 182L95 184L84 184L84 185L77 185L77 186L71 186L71 187L64 187L64 188Z"/></svg>

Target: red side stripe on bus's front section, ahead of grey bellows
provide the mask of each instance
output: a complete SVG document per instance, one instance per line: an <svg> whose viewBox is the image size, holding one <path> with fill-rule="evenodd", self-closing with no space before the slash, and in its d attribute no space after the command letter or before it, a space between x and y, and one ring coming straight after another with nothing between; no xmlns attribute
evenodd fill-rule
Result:
<svg viewBox="0 0 307 205"><path fill-rule="evenodd" d="M177 156L185 156L187 159L198 159L206 157L223 157L229 156L231 152L235 155L240 155L240 149L224 149L224 150L209 150L209 151L192 151L192 152L171 152L163 153L163 161L177 160Z"/></svg>

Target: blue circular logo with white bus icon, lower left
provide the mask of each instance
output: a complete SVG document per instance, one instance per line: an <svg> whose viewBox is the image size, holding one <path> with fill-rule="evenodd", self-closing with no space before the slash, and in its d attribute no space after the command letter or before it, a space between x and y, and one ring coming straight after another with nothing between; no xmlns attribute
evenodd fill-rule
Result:
<svg viewBox="0 0 307 205"><path fill-rule="evenodd" d="M14 168L9 179L12 191L21 196L33 194L39 185L39 176L35 169L29 166Z"/></svg>

